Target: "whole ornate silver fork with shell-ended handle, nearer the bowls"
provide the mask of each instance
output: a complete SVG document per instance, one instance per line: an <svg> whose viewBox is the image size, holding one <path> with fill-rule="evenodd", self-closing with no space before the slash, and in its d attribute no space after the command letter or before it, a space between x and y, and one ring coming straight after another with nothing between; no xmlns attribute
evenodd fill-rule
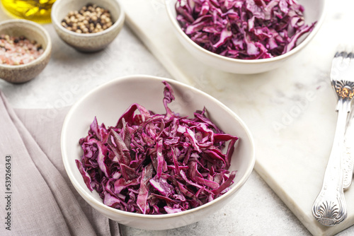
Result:
<svg viewBox="0 0 354 236"><path fill-rule="evenodd" d="M354 95L354 54L336 52L331 66L331 83L338 97L338 120L333 146L324 173L321 191L312 206L312 214L322 225L333 226L347 217L346 199L343 194L344 135L350 103Z"/></svg>

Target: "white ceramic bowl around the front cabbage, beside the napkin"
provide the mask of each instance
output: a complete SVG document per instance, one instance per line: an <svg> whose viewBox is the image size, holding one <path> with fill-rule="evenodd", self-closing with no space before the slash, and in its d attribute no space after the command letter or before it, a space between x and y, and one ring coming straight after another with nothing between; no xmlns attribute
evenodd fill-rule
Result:
<svg viewBox="0 0 354 236"><path fill-rule="evenodd" d="M210 119L229 134L239 136L230 170L237 170L232 189L219 198L198 208L181 213L166 215L143 215L120 211L103 204L96 191L89 191L76 167L75 159L80 159L81 147L79 138L87 135L93 117L98 123L114 126L118 118L132 103L137 102L148 110L164 114L164 84L171 84L176 100L171 103L171 110L181 115L193 117L195 110L206 106ZM128 76L118 78L92 90L76 102L64 120L62 128L62 158L72 184L79 194L104 216L124 225L144 230L166 230L178 228L215 213L232 199L232 196L245 184L253 170L255 153L253 138L244 122L221 102L200 90L167 78L152 76Z"/></svg>

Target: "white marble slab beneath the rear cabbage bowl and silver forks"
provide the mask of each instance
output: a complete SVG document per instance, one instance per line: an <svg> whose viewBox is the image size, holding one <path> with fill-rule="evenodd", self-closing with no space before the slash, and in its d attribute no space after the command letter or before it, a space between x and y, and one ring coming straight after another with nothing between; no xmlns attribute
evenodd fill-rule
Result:
<svg viewBox="0 0 354 236"><path fill-rule="evenodd" d="M340 225L326 228L311 213L336 124L329 68L338 42L354 39L353 2L329 1L326 21L304 52L257 75L224 73L195 61L173 35L163 0L120 2L130 28L176 80L221 100L249 125L255 170L313 235L334 235L354 224L353 187L345 193L348 218Z"/></svg>

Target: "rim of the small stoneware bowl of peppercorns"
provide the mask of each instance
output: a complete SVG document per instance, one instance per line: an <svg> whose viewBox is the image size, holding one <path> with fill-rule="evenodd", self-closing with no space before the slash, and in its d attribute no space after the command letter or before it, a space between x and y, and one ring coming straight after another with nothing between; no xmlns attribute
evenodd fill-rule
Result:
<svg viewBox="0 0 354 236"><path fill-rule="evenodd" d="M63 30L65 33L70 34L70 35L74 35L76 37L97 37L99 35L105 35L110 33L110 31L114 30L115 28L118 28L120 25L122 25L122 23L124 23L125 20L125 11L123 11L122 6L120 5L119 1L115 0L115 2L117 3L117 6L119 8L119 15L117 20L115 20L115 22L112 24L112 26L110 26L110 28L107 28L101 32L98 33L89 33L89 34L83 34L83 33L76 33L73 32L71 30L68 30L67 28L64 28L59 22L61 21L60 19L54 17L55 11L57 10L57 6L59 6L60 4L60 0L55 1L55 3L52 6L52 12L51 12L51 18L52 18L52 23L54 23L55 25L57 25L57 27L60 30Z"/></svg>

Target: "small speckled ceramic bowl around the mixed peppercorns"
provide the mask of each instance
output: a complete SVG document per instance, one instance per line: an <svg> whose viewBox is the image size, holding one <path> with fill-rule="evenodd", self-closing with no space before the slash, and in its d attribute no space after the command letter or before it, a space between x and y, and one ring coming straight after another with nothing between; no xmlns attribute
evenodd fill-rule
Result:
<svg viewBox="0 0 354 236"><path fill-rule="evenodd" d="M75 33L64 28L61 23L69 11L79 11L86 4L96 4L110 11L113 25L99 33ZM123 27L125 13L116 0L57 0L52 7L52 24L59 37L80 52L97 52L107 47Z"/></svg>

